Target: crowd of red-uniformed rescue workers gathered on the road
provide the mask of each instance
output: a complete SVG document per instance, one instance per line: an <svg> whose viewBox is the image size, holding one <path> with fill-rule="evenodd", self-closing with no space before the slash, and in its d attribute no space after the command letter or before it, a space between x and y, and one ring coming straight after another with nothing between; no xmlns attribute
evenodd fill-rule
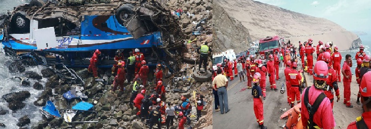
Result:
<svg viewBox="0 0 371 129"><path fill-rule="evenodd" d="M266 129L264 126L263 117L263 102L266 98L266 76L269 77L270 89L277 91L275 80L279 80L279 65L286 67L284 75L286 79L287 88L287 103L294 106L295 100L297 104L301 104L301 121L303 127L309 127L309 129L334 129L335 120L333 116L333 105L334 99L337 102L340 101L340 89L338 86L339 82L344 84L344 104L346 107L352 108L354 105L350 102L350 83L352 81L352 73L350 67L352 67L352 57L350 54L345 55L343 66L341 67L342 55L339 52L338 47L333 47L332 42L323 44L322 41L318 41L316 48L312 47L312 39L302 44L299 41L299 56L297 56L296 48L291 43L283 44L283 47L268 55L268 61L266 67L263 66L262 59L260 56L246 53L246 56L239 57L238 61L230 61L225 59L224 64L217 64L217 71L220 75L229 77L233 80L234 77L239 75L244 81L244 74L247 77L247 88L252 88L252 96L254 100L254 113L257 118L257 122L261 129ZM364 113L361 117L357 118L356 122L351 123L348 129L368 129L364 127L371 127L371 79L365 79L371 77L371 56L366 55L363 52L364 47L360 46L360 51L356 53L355 59L357 60L357 67L355 70L356 81L359 84L359 92L357 96L357 104L362 103ZM282 54L284 55L282 55ZM317 54L317 62L314 66L314 56ZM301 68L298 69L298 59L301 60ZM241 66L242 69L239 69ZM235 73L232 73L235 68ZM314 86L309 86L303 90L302 88L302 75L301 73L307 72L314 78ZM242 72L243 74L240 74ZM217 73L219 74L219 72ZM213 77L216 78L216 73ZM343 75L343 80L341 75ZM219 75L218 75L219 76ZM228 80L227 80L228 81ZM227 83L228 85L228 83ZM216 92L216 85L213 85L214 98L215 98L215 110L219 111L219 107L222 109L221 102L218 98L219 89ZM334 92L335 91L335 96ZM216 94L215 94L216 92ZM335 98L336 97L336 98ZM223 114L223 112L222 112ZM288 125L286 125L288 126Z"/></svg>

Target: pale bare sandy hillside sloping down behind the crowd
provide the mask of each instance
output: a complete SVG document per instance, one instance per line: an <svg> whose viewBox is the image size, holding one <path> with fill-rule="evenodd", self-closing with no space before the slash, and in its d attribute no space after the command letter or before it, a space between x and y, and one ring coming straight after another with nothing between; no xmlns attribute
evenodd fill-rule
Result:
<svg viewBox="0 0 371 129"><path fill-rule="evenodd" d="M251 40L279 34L294 41L304 41L308 38L314 39L315 43L318 43L318 40L324 42L333 41L338 46L342 46L339 48L340 50L348 50L352 48L351 44L353 41L358 39L358 36L354 33L348 32L342 26L329 20L293 12L258 1L214 0L214 4L223 7L223 12L219 13L226 13L230 19L233 18L238 21L235 23L240 23L246 27L248 30L247 34L249 34ZM223 25L220 25L220 27L223 27ZM224 35L228 35L228 33ZM235 35L238 34L235 33ZM233 46L231 47L235 49Z"/></svg>

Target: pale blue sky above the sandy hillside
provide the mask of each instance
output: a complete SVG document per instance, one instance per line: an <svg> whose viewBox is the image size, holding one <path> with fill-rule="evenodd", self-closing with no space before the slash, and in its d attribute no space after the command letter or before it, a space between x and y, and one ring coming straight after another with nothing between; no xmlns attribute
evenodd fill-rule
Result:
<svg viewBox="0 0 371 129"><path fill-rule="evenodd" d="M371 0L255 0L371 33Z"/></svg>

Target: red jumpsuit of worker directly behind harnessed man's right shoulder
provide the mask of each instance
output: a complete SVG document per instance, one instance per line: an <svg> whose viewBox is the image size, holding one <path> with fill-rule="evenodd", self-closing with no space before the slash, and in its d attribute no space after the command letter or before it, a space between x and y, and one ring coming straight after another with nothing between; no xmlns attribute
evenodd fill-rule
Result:
<svg viewBox="0 0 371 129"><path fill-rule="evenodd" d="M327 78L327 81L326 81L326 84L329 86L329 90L327 90L327 89L324 90L324 93L327 96L327 98L330 100L331 107L334 107L334 94L332 92L332 89L335 90L335 95L336 96L340 96L339 87L334 87L334 85L332 84L332 83L334 83L336 81L337 81L336 72L335 72L334 69L332 69L329 66L329 69L328 69L328 78Z"/></svg>

